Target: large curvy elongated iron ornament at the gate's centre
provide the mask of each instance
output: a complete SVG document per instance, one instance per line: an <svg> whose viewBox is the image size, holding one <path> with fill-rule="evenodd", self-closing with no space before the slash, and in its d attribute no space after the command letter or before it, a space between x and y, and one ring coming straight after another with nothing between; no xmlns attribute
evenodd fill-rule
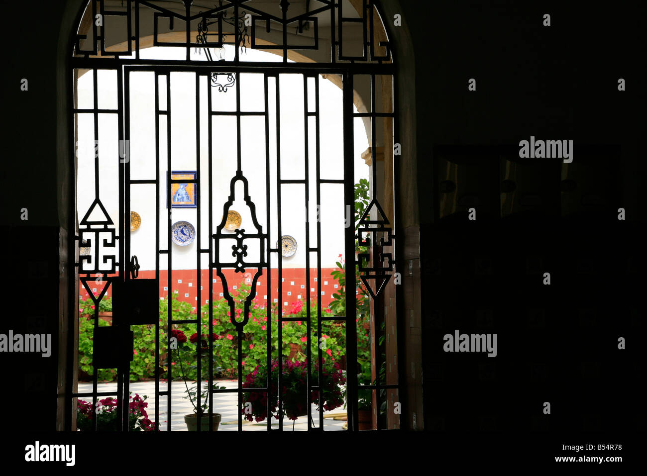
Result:
<svg viewBox="0 0 647 476"><path fill-rule="evenodd" d="M236 182L238 181L243 182L245 195L243 199L245 199L245 204L247 204L250 210L250 214L252 215L252 223L254 225L254 228L256 228L255 233L248 233L245 231L245 228L236 228L233 234L223 233L223 230L226 230L229 209L234 204L234 200L236 199ZM223 283L223 297L225 297L227 303L229 304L230 321L236 326L236 329L239 331L243 330L243 327L245 327L245 324L247 324L247 321L249 320L250 305L254 300L254 297L256 297L256 282L258 281L259 276L263 274L263 268L267 267L267 258L265 257L265 244L267 243L268 235L267 233L263 233L263 226L258 223L258 219L256 218L256 205L250 199L248 190L249 184L247 182L247 179L243 175L243 172L239 169L230 182L230 195L227 202L225 203L225 206L223 207L223 219L217 226L215 233L212 236L212 238L214 239L214 261L212 265L214 266L214 269L220 277L221 283ZM235 258L235 261L221 262L221 241L227 240L231 242L232 239L236 240L236 244L230 246L230 249L232 250L232 257ZM259 242L259 261L246 261L249 246L248 244L244 243L245 240L254 240ZM245 299L243 320L237 321L236 301L234 301L234 297L229 294L227 278L225 277L225 274L223 274L223 269L234 268L234 272L244 274L245 270L250 267L256 268L256 273L254 274L254 278L252 279L249 295L247 296L247 299Z"/></svg>

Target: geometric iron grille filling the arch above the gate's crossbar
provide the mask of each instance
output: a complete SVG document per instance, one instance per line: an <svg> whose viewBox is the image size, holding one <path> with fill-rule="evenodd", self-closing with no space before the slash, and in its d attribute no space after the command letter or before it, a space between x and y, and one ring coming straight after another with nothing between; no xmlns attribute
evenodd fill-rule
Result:
<svg viewBox="0 0 647 476"><path fill-rule="evenodd" d="M134 54L135 60L139 60L143 47L137 32L151 31L153 46L184 49L187 60L190 60L192 49L208 52L207 49L236 45L234 63L239 61L239 47L282 50L283 62L287 62L289 50L319 50L321 45L329 45L332 63L390 63L390 43L383 34L378 34L383 27L375 3L362 0L360 17L357 17L354 9L349 12L346 6L344 10L342 0L218 0L217 5L208 10L203 10L204 6L197 3L193 5L193 0L98 0L90 2L87 7L82 28L76 35L74 55L120 58ZM102 21L95 21L98 15ZM323 19L329 25L320 28ZM191 25L189 31L187 24ZM126 25L126 31L111 29L113 25ZM214 29L210 30L210 26ZM164 34L170 32L186 32L186 35L182 38L176 35L172 41L164 39ZM198 33L196 37L193 32ZM270 32L276 40L268 43L265 38ZM104 41L105 38L115 38L116 34L122 40L119 49L106 45ZM350 35L362 39L361 49L353 54L344 50L344 39ZM333 41L329 39L331 36ZM208 59L212 61L210 55Z"/></svg>

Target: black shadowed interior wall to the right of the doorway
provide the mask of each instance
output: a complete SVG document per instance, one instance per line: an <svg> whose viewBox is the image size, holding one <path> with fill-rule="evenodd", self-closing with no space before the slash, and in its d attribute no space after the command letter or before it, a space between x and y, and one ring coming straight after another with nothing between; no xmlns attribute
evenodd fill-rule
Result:
<svg viewBox="0 0 647 476"><path fill-rule="evenodd" d="M405 1L402 10L416 54L425 429L644 430L638 4ZM575 191L563 188L561 160L518 157L531 135L574 141ZM502 218L505 159L519 167L517 199L541 201ZM456 213L441 219L448 163L477 201L454 197ZM444 352L454 330L498 334L498 356ZM617 348L621 336L633 349Z"/></svg>

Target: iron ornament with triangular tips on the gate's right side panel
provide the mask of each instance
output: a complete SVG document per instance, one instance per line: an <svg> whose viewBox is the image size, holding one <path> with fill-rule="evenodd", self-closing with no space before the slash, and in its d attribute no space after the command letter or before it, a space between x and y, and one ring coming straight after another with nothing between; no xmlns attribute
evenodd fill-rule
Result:
<svg viewBox="0 0 647 476"><path fill-rule="evenodd" d="M371 210L375 210L381 219L371 220ZM364 233L367 233L366 237L364 237ZM370 240L369 235L372 235ZM373 265L364 265L364 263L370 263L370 253L359 253L357 259L358 269L363 273L360 274L360 279L362 279L362 283L366 286L366 290L371 297L375 299L384 290L389 279L391 279L390 273L393 271L393 266L395 265L393 254L382 252L383 246L391 246L393 244L393 231L384 210L382 210L382 207L376 199L371 200L369 206L364 211L364 215L360 218L357 224L356 238L360 246L367 246L373 243ZM386 264L384 264L385 260ZM370 281L374 281L375 284L371 286Z"/></svg>

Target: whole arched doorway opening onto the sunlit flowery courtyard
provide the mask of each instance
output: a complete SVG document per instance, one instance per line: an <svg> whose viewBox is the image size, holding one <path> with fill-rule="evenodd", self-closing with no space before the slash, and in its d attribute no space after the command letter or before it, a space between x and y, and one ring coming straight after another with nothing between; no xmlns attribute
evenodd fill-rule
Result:
<svg viewBox="0 0 647 476"><path fill-rule="evenodd" d="M286 1L226 1L215 8L200 7L197 1L178 2L177 8L168 8L168 2L123 3L124 6L119 1L99 1L87 6L72 58L77 92L75 144L90 141L93 146L93 179L88 179L93 182L93 187L89 188L91 200L88 200L87 210L80 210L78 216L78 279L94 305L93 316L89 319L93 336L93 382L87 391L75 389L73 396L91 398L92 408L96 409L102 397L114 395L117 411L127 413L126 396L135 365L133 353L137 352L133 332L139 332L142 338L148 332L154 335L155 347L155 418L151 419L159 426L162 400L166 400L166 429L171 430L173 402L177 396L173 387L173 356L177 355L178 363L182 362L179 353L174 352L179 352L177 341L181 340L176 336L181 331L179 326L193 325L195 380L203 380L206 373L208 387L212 388L214 377L219 373L214 356L223 354L225 345L230 346L227 351L236 354L232 376L237 384L208 391L205 395L208 407L214 408L214 398L221 394L236 394L237 429L242 429L243 420L249 415L245 408L252 402L251 415L259 416L264 407L270 416L265 418L270 430L272 412L267 411L269 407L276 407L277 415L289 418L294 413L284 412L291 405L290 399L278 389L283 389L285 381L291 378L283 369L294 367L294 357L283 353L285 341L295 335L289 326L298 323L305 331L300 334L297 331L296 335L304 344L297 352L302 354L303 360L299 362L305 362L303 407L307 407L307 429L322 430L325 428L325 398L319 402L320 394L323 397L326 393L334 394L333 389L320 385L326 381L325 359L334 358L332 352L328 352L331 349L326 340L331 339L325 334L324 326L338 324L344 329L338 340L343 341L340 347L344 350L344 367L351 369L344 376L348 428L360 428L362 406L372 411L372 417L368 417L371 427L399 427L398 323L395 307L392 303L389 306L384 303L385 294L391 292L391 296L395 296L392 288L395 279L391 279L395 272L391 229L395 220L393 151L397 149L397 140L394 140L393 131L397 130L394 127L397 108L392 94L395 71L377 8L362 5L358 14L351 3L345 1L295 1L292 5ZM351 34L347 33L349 30ZM327 42L323 31L329 32ZM144 39L152 41L153 47L174 50L180 56L171 59L151 57L151 49L142 45ZM233 45L230 48L233 57L216 61L216 55L223 53L226 45ZM251 50L278 50L280 61L248 61L241 55L243 46ZM203 54L196 56L196 49ZM300 53L296 54L296 50ZM79 103L82 95L78 94L78 78L84 71L91 72L93 89L91 100L85 105ZM142 75L151 78L151 101L148 109L136 110L131 107L135 100L131 85L135 76ZM329 170L329 175L322 174L322 168L334 160L322 157L322 144L334 141L322 135L322 75L333 79L342 90L338 165ZM256 81L256 107L248 107L241 100L241 84L246 80ZM105 89L102 85L105 81L112 81L115 92L112 98L100 93ZM184 114L179 122L174 107L177 99L172 97L174 81L181 81L182 88L190 89L189 96L195 96L192 117ZM292 89L281 89L281 84L285 83L291 84ZM281 132L285 129L281 97L295 95L294 88L296 96L302 98L298 118L302 124L302 140L300 144L289 140L286 147ZM216 92L230 94L215 98ZM223 97L229 99L223 100ZM364 109L353 109L358 97L366 98ZM92 124L85 132L83 116L91 117L88 124ZM147 117L153 119L148 129L144 124ZM255 130L263 131L260 139L254 135L245 137L250 130L245 122L254 118L260 124ZM222 134L216 127L217 120L230 121L228 130L232 134ZM356 121L368 126L370 140L370 147L364 153L371 167L370 189L363 205L361 199L357 200L355 186L353 123ZM107 122L116 126L111 136L104 134ZM296 123L290 124L294 127ZM184 140L179 148L173 140L174 127L182 131L177 135ZM228 149L223 146L226 141L231 142ZM250 144L260 144L260 147L245 151ZM295 156L296 147L302 149L302 153ZM292 160L288 168L285 168L286 156ZM106 168L113 169L107 187L102 185L105 177L102 170L105 172ZM384 183L390 186L380 186ZM302 191L288 193L286 198L289 188ZM346 226L328 235L322 233L322 229L325 232L324 206L330 202L323 197L325 188L338 188L336 196L340 197L342 206L335 213L337 219L342 217L346 221ZM148 192L141 191L143 189ZM300 203L294 198L299 194ZM136 212L133 203L146 202L142 201L142 196L148 197L153 210L144 217L133 214ZM109 212L108 202L113 203L114 213ZM181 220L176 220L174 217L186 211L182 209L190 209L192 215L184 213ZM294 215L297 209L300 219L286 222L286 215ZM355 223L350 218L354 215L353 210L362 211ZM135 233L144 226L144 220L155 223L153 240L137 243ZM295 239L294 233L285 232L286 223L294 228L296 222L301 223L303 239ZM326 243L335 239L343 246L345 264L340 263L338 274L329 275L337 278L338 285L333 285L333 289L338 291L331 291L331 301L326 308L321 297L325 296L323 287L327 286L323 284L327 283L322 270L322 260L326 259L323 249ZM191 246L190 253L186 252L186 246ZM305 289L300 299L305 315L301 308L296 312L294 307L289 309L290 303L285 300L292 292L287 288L294 285L291 277L297 276L287 276L287 269L299 268L285 266L285 261L300 248L303 250L300 266L303 284L300 287ZM140 258L144 255L147 259L142 262ZM184 284L185 278L179 276L187 275L178 274L173 263L174 259L175 263L186 260L188 255L195 261L192 270L195 279L191 284L199 305L182 314L180 308L175 308L172 294L176 284ZM142 275L149 272L148 276L140 276L140 271ZM233 281L236 277L243 278L247 286L245 294L234 292L238 286ZM298 276L294 281L298 281ZM358 290L342 293L342 289L355 290L342 283L356 283ZM367 319L362 323L359 322L362 312L360 290L366 291L363 304ZM115 299L114 315L109 325L104 325L99 311L107 293ZM189 292L185 294L190 295ZM214 302L219 297L222 298L221 307ZM164 316L159 312L159 300L165 298ZM275 308L273 303L276 303ZM260 325L265 332L265 344L248 339L252 323L259 318L254 313L256 306L266 313L267 325ZM223 341L223 345L217 342L219 339L209 337L219 336L214 332L214 327L223 324L219 312L226 312L228 325L233 326L233 333L225 334L230 344ZM273 312L277 319L276 337L272 334ZM174 314L181 317L175 318ZM76 323L76 313L73 318ZM201 329L201 326L206 327ZM362 329L366 330L368 338L368 371L364 372L364 380L353 371L361 369L358 349L362 345ZM202 341L199 335L203 330L208 337L204 345L197 345ZM186 333L183 332L185 338L188 337ZM262 334L252 337L257 339L259 336ZM276 354L272 352L274 340ZM215 349L216 345L222 346L221 349ZM254 374L246 369L246 355L250 354L247 346L251 351L263 345L265 355L257 359L256 369L261 369L261 374L265 369L265 374L263 378L252 378L252 384L245 386ZM166 365L162 362L164 356ZM272 373L276 367L278 371ZM100 368L113 371L116 391L100 391ZM75 373L73 370L71 374ZM162 382L163 376L166 382ZM276 381L272 380L273 376ZM205 403L200 394L195 393L197 407ZM264 403L257 412L253 402L259 400ZM313 409L308 405L314 400L318 403L318 418L313 417ZM283 416L277 418L279 429L283 429ZM214 416L204 418L208 420L206 430L211 429ZM118 420L122 422L122 429L127 430L129 419L118 413ZM96 421L94 418L93 429Z"/></svg>

